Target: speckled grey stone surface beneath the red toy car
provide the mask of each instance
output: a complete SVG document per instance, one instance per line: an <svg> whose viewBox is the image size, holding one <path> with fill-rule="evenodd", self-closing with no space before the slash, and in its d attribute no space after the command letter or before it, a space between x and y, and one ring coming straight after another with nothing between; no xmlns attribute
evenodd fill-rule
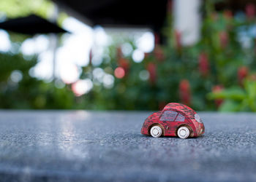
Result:
<svg viewBox="0 0 256 182"><path fill-rule="evenodd" d="M140 135L150 113L0 111L0 181L256 181L256 114L182 140Z"/></svg>

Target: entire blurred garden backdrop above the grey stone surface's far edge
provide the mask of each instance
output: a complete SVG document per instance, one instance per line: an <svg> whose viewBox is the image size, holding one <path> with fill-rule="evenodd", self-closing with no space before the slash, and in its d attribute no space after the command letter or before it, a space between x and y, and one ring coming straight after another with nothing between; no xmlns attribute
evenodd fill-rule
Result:
<svg viewBox="0 0 256 182"><path fill-rule="evenodd" d="M1 0L0 108L256 111L255 4Z"/></svg>

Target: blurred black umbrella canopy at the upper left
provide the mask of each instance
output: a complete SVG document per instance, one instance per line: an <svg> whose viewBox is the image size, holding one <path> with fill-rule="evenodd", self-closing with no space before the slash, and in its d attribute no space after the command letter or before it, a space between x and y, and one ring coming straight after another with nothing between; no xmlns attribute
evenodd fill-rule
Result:
<svg viewBox="0 0 256 182"><path fill-rule="evenodd" d="M67 33L56 23L51 23L37 15L29 15L28 17L18 17L0 23L0 28L6 31L23 34L42 34L42 33Z"/></svg>

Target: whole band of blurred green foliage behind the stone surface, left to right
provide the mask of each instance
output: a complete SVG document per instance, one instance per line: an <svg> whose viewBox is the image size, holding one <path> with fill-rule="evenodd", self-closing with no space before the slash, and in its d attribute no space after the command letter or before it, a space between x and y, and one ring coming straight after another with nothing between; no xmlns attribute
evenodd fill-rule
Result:
<svg viewBox="0 0 256 182"><path fill-rule="evenodd" d="M27 0L29 1L29 0ZM102 63L95 66L94 55L83 67L80 79L90 79L93 88L75 96L72 85L56 87L29 75L37 57L0 55L1 108L86 108L157 110L169 102L181 102L195 110L256 111L255 6L245 13L215 12L211 1L203 4L201 38L183 46L181 32L173 28L167 15L163 33L166 44L157 41L153 52L135 63L138 50L133 39L113 38L105 48ZM251 10L250 10L251 9ZM21 73L19 82L12 76ZM15 79L14 79L15 80Z"/></svg>

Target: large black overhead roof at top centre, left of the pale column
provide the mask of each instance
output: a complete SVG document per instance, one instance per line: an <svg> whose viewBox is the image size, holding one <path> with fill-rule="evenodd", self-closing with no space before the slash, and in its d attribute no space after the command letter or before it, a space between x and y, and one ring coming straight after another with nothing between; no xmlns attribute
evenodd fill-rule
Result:
<svg viewBox="0 0 256 182"><path fill-rule="evenodd" d="M151 28L159 34L165 25L167 4L170 1L140 0L53 0L69 15L87 20L89 25L103 27Z"/></svg>

